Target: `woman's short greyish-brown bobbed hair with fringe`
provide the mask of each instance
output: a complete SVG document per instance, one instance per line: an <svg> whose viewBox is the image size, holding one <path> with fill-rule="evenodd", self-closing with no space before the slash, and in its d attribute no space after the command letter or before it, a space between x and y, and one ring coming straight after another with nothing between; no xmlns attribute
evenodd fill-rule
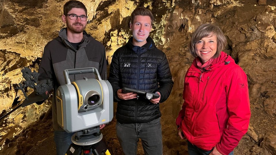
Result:
<svg viewBox="0 0 276 155"><path fill-rule="evenodd" d="M202 38L208 37L210 35L216 35L217 38L216 54L213 56L213 58L216 58L221 54L221 51L225 48L227 44L226 37L223 34L222 30L214 24L202 24L198 28L196 28L196 31L193 33L191 41L188 45L188 49L194 57L197 57L195 50L196 43Z"/></svg>

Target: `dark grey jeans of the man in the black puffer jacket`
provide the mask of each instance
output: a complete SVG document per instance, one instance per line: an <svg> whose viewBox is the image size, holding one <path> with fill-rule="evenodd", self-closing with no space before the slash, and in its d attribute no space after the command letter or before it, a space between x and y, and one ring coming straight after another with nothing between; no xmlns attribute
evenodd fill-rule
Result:
<svg viewBox="0 0 276 155"><path fill-rule="evenodd" d="M141 138L146 155L162 155L160 117L147 123L124 124L117 121L116 133L125 155L137 154L139 138Z"/></svg>

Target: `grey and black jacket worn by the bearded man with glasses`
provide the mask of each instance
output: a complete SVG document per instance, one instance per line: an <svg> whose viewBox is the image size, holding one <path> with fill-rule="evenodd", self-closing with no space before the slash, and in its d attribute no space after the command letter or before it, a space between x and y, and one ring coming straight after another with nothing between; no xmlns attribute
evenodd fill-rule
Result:
<svg viewBox="0 0 276 155"><path fill-rule="evenodd" d="M59 36L47 43L44 48L41 63L39 65L39 81L50 79L56 91L58 86L66 84L63 71L65 69L95 67L101 78L105 78L106 53L101 42L83 31L83 40L78 49L75 49L68 41L67 28L59 32ZM81 80L83 77L95 78L94 73L69 75L70 81ZM52 89L52 88L51 88ZM50 90L48 90L49 92ZM55 91L53 96L55 96ZM58 131L63 129L57 124L57 111L55 97L52 100L53 128Z"/></svg>

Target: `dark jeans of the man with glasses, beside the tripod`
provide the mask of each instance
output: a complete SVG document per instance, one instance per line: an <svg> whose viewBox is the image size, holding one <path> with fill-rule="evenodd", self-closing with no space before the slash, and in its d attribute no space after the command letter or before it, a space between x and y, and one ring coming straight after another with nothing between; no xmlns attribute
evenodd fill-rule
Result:
<svg viewBox="0 0 276 155"><path fill-rule="evenodd" d="M64 155L72 143L71 137L74 133L54 130L54 141L57 148L57 155Z"/></svg>

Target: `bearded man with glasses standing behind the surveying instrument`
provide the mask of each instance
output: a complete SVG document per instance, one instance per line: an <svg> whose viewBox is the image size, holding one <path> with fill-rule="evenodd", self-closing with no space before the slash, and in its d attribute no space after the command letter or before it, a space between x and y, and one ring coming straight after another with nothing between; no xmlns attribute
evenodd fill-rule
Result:
<svg viewBox="0 0 276 155"><path fill-rule="evenodd" d="M39 66L39 82L48 79L53 82L52 113L57 155L66 153L71 144L71 136L74 134L67 133L57 123L55 91L58 86L66 84L63 75L64 69L95 67L102 79L105 79L106 73L104 45L85 32L87 24L85 5L80 1L68 1L65 3L63 11L62 21L66 23L67 28L62 28L59 36L47 43ZM69 75L70 81L81 80L83 77L95 78L95 75L94 73ZM45 96L49 96L51 89L45 92ZM47 97L45 97L46 99ZM100 129L104 126L100 125Z"/></svg>

